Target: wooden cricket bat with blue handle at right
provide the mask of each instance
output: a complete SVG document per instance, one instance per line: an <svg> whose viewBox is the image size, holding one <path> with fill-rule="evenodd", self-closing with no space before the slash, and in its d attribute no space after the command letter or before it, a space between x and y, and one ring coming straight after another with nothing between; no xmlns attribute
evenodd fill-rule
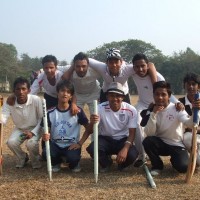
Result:
<svg viewBox="0 0 200 200"><path fill-rule="evenodd" d="M195 94L195 99L199 99L199 93ZM193 128L192 128L192 149L190 152L189 164L185 178L186 183L190 183L194 174L197 161L197 129L198 129L198 109L194 109Z"/></svg>

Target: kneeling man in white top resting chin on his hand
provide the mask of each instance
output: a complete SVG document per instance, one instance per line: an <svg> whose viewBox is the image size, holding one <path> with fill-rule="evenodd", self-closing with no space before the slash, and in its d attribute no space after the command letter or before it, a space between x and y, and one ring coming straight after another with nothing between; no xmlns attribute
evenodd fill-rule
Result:
<svg viewBox="0 0 200 200"><path fill-rule="evenodd" d="M159 175L164 167L160 156L170 156L170 162L178 172L187 171L189 156L183 144L183 124L191 128L192 117L185 110L176 110L175 104L169 102L171 93L169 83L154 83L155 105L141 113L141 125L147 135L143 145L151 160L152 175Z"/></svg>

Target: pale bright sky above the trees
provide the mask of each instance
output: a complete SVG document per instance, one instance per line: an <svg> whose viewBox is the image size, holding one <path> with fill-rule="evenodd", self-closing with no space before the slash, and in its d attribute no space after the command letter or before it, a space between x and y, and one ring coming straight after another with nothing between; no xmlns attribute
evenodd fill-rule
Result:
<svg viewBox="0 0 200 200"><path fill-rule="evenodd" d="M139 39L165 55L200 54L200 0L0 0L0 42L19 56L70 62L104 43Z"/></svg>

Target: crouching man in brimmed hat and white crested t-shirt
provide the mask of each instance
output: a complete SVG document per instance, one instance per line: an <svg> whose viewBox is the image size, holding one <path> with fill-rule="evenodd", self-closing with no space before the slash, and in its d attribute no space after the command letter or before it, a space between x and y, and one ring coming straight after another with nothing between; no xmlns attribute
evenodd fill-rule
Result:
<svg viewBox="0 0 200 200"><path fill-rule="evenodd" d="M107 90L107 100L98 106L98 115L91 115L91 123L99 121L99 163L101 172L106 172L112 165L111 155L117 155L116 162L121 171L138 157L134 145L137 127L137 111L130 104L123 102L123 86L112 82ZM87 147L91 157L94 156L94 143Z"/></svg>

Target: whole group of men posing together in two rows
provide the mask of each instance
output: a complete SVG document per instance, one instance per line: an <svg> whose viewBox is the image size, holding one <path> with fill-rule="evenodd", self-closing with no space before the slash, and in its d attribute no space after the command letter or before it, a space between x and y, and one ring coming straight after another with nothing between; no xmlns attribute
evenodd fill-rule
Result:
<svg viewBox="0 0 200 200"><path fill-rule="evenodd" d="M60 170L63 157L73 172L79 172L81 147L92 134L94 123L98 122L101 172L110 170L111 155L116 155L120 171L133 163L136 167L143 165L147 155L152 175L160 174L163 169L160 156L171 156L172 166L178 172L186 172L192 138L192 109L200 108L200 100L194 99L200 89L199 75L185 76L187 95L177 100L170 84L144 54L136 54L132 64L127 64L115 48L107 51L106 63L80 52L65 69L57 67L55 56L47 55L42 65L44 71L31 86L25 78L15 80L14 95L8 98L2 112L2 123L11 115L15 124L7 144L17 158L17 168L24 167L29 157L33 168L41 167L39 140L42 136L44 141L50 140L54 172ZM99 77L103 78L102 87ZM139 100L135 106L130 102L129 77L133 78L138 91ZM47 102L49 133L40 129L43 127L42 105L35 94L41 87ZM98 115L93 114L92 103L96 99L100 99ZM83 111L85 104L89 106L90 120ZM85 132L80 138L81 125ZM24 141L29 157L20 147ZM43 146L45 157L44 149ZM92 139L86 150L94 156ZM199 152L197 165L200 165Z"/></svg>

